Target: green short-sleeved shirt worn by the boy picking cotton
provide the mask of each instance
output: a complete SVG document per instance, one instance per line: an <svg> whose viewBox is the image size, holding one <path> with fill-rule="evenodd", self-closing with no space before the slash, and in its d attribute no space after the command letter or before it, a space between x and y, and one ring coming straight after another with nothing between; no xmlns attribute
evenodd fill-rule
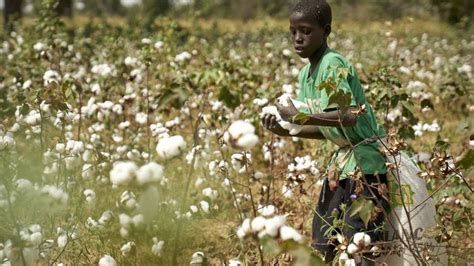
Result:
<svg viewBox="0 0 474 266"><path fill-rule="evenodd" d="M363 174L387 173L385 157L380 152L379 144L376 141L377 135L384 137L386 133L383 127L377 123L354 67L341 54L327 48L316 70L312 74L309 72L310 64L307 64L299 74L298 100L309 106L303 112L316 114L337 109L332 105L328 106L329 98L334 92L328 95L327 91L319 86L328 78L337 81L336 90L350 93L351 106L365 105L366 108L365 113L357 118L355 126L344 127L345 133L341 128L320 127L326 139L340 147L329 162L330 165L336 165L339 170L339 178L347 178L349 172L355 172L357 162L360 163ZM340 75L342 72L347 73L347 76ZM350 148L348 139L355 146L354 151Z"/></svg>

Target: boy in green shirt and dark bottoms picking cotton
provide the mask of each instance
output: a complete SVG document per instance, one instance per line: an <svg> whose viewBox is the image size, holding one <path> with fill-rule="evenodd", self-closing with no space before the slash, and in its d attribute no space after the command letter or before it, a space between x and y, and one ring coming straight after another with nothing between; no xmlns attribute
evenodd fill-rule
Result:
<svg viewBox="0 0 474 266"><path fill-rule="evenodd" d="M369 234L372 242L382 240L380 227L384 221L383 212L369 221L367 228L359 215L351 217L349 212L352 201L358 197L371 199L379 208L388 207L386 197L380 196L377 189L379 185L387 184L385 157L376 142L377 136L384 136L385 131L377 123L365 99L354 67L327 45L332 20L329 4L325 0L301 0L294 7L289 20L296 53L310 62L300 71L298 95L298 100L306 102L310 108L305 110L308 114L306 119L301 120L295 119L299 111L291 101L287 106L277 103L280 116L283 120L304 125L297 137L328 139L340 147L330 160L328 178L324 181L317 213L313 218L313 246L324 254L326 261L331 261L335 255L335 245L329 240L331 236L324 235L324 232L328 228L327 224L332 225L331 213L334 211L347 225L340 230L348 240L360 231ZM344 71L347 75L340 75ZM342 108L328 106L329 98L335 92L328 95L320 84L330 80L337 83L335 92L342 91L350 95L350 107L344 108L347 109L344 113ZM365 110L357 114L361 106L365 106ZM277 135L290 136L288 131L279 126L275 116L263 116L262 124ZM363 174L362 186L360 181L353 178L353 173L357 171ZM341 217L341 204L347 206L345 217Z"/></svg>

